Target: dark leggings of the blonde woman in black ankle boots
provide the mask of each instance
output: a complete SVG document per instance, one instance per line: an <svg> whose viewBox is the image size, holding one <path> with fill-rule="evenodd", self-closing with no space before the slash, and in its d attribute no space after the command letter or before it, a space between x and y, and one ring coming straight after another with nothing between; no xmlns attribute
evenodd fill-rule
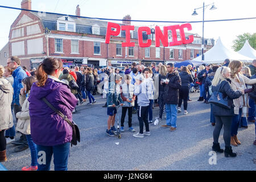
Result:
<svg viewBox="0 0 256 182"><path fill-rule="evenodd" d="M230 135L231 135L231 125L232 116L218 116L215 115L216 126L213 131L213 142L218 143L218 137L220 136L220 131L222 126L224 126L223 139L225 146L230 146Z"/></svg>

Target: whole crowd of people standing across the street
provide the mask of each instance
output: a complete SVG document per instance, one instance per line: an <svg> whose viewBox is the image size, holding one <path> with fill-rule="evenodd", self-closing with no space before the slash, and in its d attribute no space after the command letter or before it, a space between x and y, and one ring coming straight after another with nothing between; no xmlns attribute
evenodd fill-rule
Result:
<svg viewBox="0 0 256 182"><path fill-rule="evenodd" d="M215 126L212 150L235 157L232 146L242 142L238 128L247 128L247 121L255 122L256 60L246 67L242 61L226 59L224 65L204 64L175 68L172 63L152 62L150 67L133 63L124 69L106 67L64 67L60 59L48 57L37 69L27 71L16 56L7 59L6 67L0 65L0 162L7 161L6 145L16 145L15 152L31 151L31 165L22 171L49 170L52 155L55 170L67 170L69 142L72 127L52 110L44 99L72 121L76 106L89 99L87 105L96 103L95 94L106 98L107 129L110 137L117 135L115 116L122 108L121 132L135 133L132 114L138 116L139 131L133 137L150 136L150 124L158 124L166 113L163 128L177 129L177 113L188 112L189 93L200 92L199 100L209 104L213 93L222 93L230 109L210 104L209 121ZM153 108L159 106L158 117L153 118ZM128 129L125 117L128 111ZM13 114L16 125L13 123ZM154 122L155 120L155 122ZM225 151L218 138L224 126ZM145 127L145 129L144 129ZM20 138L14 138L16 132ZM256 135L256 130L255 130ZM254 141L256 145L256 139ZM45 152L46 163L39 164L40 152Z"/></svg>

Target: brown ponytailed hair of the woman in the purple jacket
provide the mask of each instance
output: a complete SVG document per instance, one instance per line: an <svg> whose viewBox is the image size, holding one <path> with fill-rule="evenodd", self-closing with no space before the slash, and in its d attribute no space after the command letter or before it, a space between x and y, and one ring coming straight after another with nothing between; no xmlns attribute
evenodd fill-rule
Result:
<svg viewBox="0 0 256 182"><path fill-rule="evenodd" d="M61 69L62 67L63 63L60 59L55 57L47 57L44 59L42 64L39 65L38 71L36 71L36 78L38 80L36 85L44 86L48 75L51 75L56 69Z"/></svg>

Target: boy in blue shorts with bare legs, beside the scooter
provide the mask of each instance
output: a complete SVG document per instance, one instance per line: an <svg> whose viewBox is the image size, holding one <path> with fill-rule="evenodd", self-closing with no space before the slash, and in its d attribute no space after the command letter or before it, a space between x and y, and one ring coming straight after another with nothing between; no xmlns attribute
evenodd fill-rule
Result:
<svg viewBox="0 0 256 182"><path fill-rule="evenodd" d="M109 78L109 93L107 96L107 114L109 115L108 119L108 129L106 130L106 134L108 134L110 137L113 137L117 129L115 129L115 114L117 114L117 109L115 109L115 106L118 106L119 104L123 105L123 100L121 98L121 92L120 92L120 82L122 80L122 77L120 75L116 75L115 73L112 73Z"/></svg>

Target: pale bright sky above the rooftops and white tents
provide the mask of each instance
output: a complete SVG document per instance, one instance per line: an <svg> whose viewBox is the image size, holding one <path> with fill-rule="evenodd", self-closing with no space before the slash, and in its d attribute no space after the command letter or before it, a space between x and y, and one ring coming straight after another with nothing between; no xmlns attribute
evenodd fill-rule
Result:
<svg viewBox="0 0 256 182"><path fill-rule="evenodd" d="M0 0L0 5L20 8L21 1ZM189 22L203 20L203 8L196 10L198 15L192 16L194 9L203 7L203 2L205 6L214 3L217 7L216 10L209 10L211 6L206 7L204 20L256 17L255 0L32 0L32 10L75 15L76 6L79 5L81 16L122 19L130 15L134 20ZM19 13L20 10L0 7L0 49L8 42L10 26ZM131 24L155 27L178 23L131 22ZM203 35L203 23L191 23L191 25L192 30L187 32ZM246 32L250 34L256 32L256 19L204 23L204 38L217 40L220 37L222 43L230 49L233 46L233 40Z"/></svg>

